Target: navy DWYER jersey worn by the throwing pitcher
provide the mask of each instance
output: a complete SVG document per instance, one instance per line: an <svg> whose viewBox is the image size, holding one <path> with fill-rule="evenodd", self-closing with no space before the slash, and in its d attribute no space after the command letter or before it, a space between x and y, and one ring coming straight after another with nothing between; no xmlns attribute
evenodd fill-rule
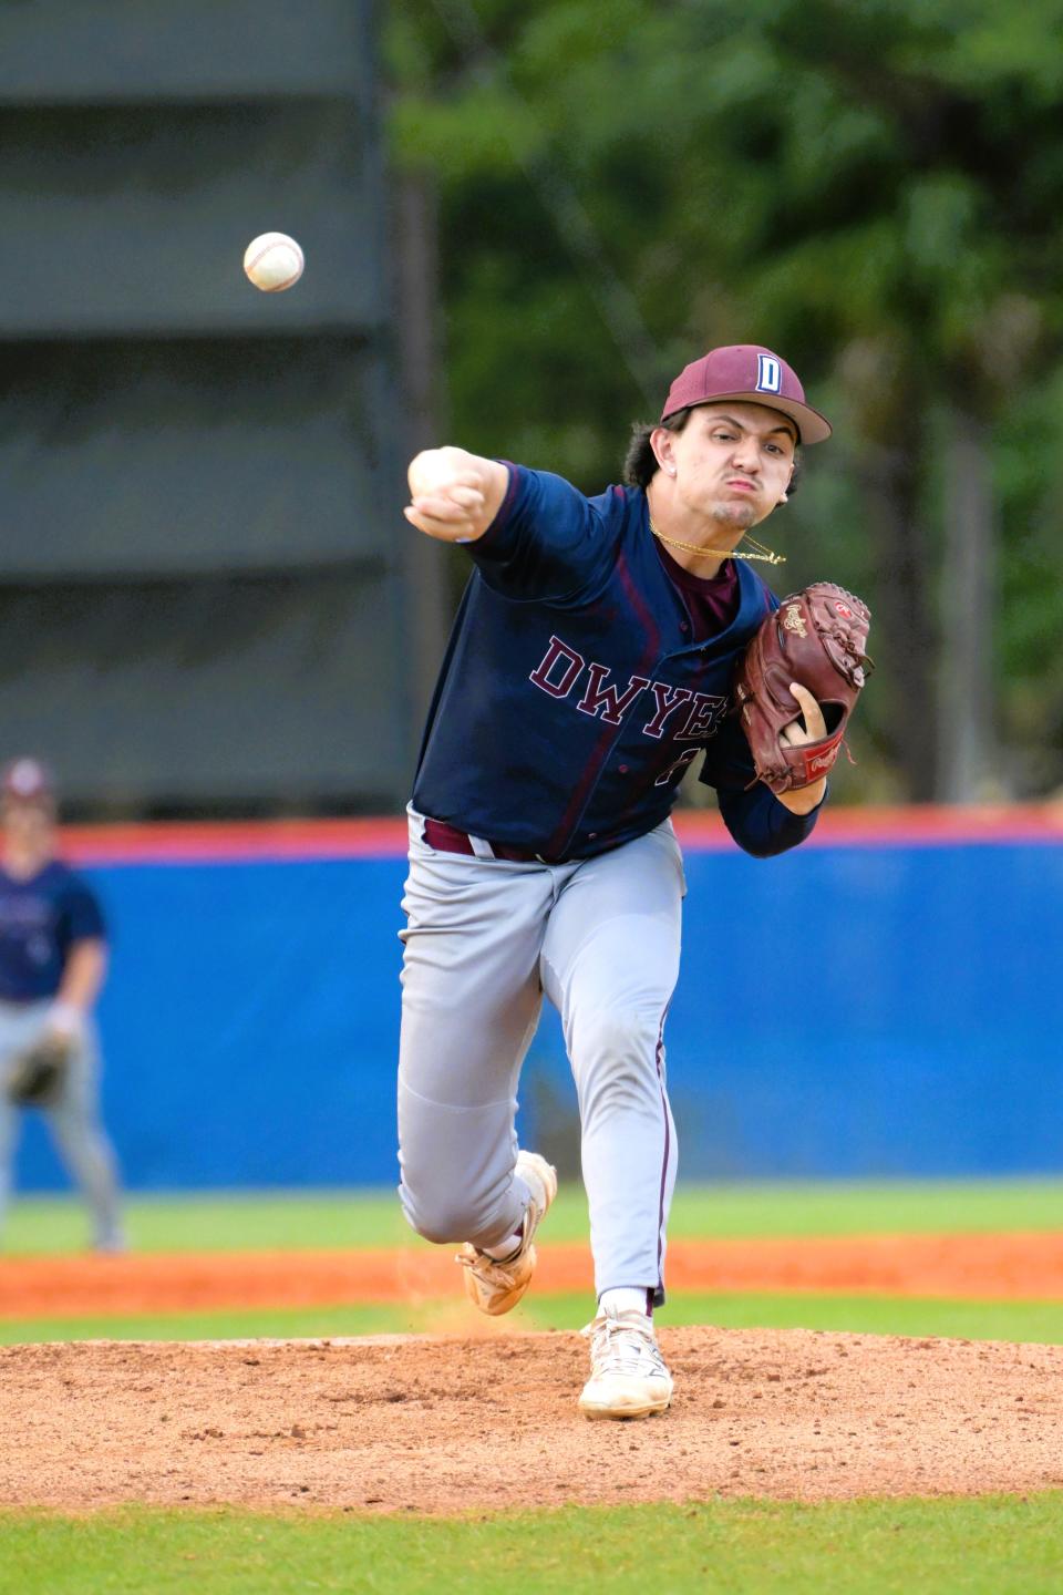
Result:
<svg viewBox="0 0 1063 1595"><path fill-rule="evenodd" d="M814 825L755 780L732 708L735 660L778 600L738 565L738 606L693 641L649 530L645 493L585 498L510 466L467 545L465 589L429 710L413 804L473 836L590 858L668 817L687 766L719 793L735 841L768 857Z"/></svg>

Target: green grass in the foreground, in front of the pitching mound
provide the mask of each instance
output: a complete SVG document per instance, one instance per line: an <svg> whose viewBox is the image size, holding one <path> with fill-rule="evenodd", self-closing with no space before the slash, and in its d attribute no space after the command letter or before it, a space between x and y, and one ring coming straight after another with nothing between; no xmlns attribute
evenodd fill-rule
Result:
<svg viewBox="0 0 1063 1595"><path fill-rule="evenodd" d="M488 1518L124 1509L0 1515L19 1595L1033 1595L1058 1590L1063 1496L712 1501Z"/></svg>

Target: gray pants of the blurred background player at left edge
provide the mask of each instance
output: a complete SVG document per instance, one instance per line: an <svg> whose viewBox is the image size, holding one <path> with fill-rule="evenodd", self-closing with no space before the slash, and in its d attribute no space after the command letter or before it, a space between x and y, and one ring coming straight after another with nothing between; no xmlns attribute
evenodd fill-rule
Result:
<svg viewBox="0 0 1063 1595"><path fill-rule="evenodd" d="M0 1230L11 1196L11 1168L22 1112L8 1101L6 1075L16 1053L30 1046L46 1029L51 1008L49 998L30 1003L0 1002ZM62 1093L40 1112L88 1201L94 1244L110 1250L123 1244L123 1230L115 1155L100 1123L99 1073L99 1043L89 1022L70 1059Z"/></svg>

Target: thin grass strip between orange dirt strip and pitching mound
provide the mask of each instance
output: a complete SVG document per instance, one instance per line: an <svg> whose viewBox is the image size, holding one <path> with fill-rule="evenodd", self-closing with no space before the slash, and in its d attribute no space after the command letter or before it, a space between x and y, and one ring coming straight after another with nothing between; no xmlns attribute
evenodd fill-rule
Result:
<svg viewBox="0 0 1063 1595"><path fill-rule="evenodd" d="M513 1330L580 1329L591 1316L586 1295L535 1297L507 1319ZM167 1313L126 1317L0 1321L0 1345L38 1340L287 1340L336 1335L449 1333L475 1329L454 1281L446 1302L416 1306L322 1306L228 1313ZM950 1335L958 1340L1031 1340L1063 1345L1063 1302L951 1302L939 1297L684 1294L669 1298L658 1322L719 1329L822 1329L865 1335ZM1060 1584L1063 1589L1063 1581Z"/></svg>

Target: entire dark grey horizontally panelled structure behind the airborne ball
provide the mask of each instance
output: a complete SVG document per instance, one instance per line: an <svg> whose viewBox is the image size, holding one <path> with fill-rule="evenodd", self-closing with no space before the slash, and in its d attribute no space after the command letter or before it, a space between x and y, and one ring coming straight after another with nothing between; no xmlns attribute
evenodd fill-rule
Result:
<svg viewBox="0 0 1063 1595"><path fill-rule="evenodd" d="M0 754L83 815L403 799L371 43L357 0L0 0Z"/></svg>

